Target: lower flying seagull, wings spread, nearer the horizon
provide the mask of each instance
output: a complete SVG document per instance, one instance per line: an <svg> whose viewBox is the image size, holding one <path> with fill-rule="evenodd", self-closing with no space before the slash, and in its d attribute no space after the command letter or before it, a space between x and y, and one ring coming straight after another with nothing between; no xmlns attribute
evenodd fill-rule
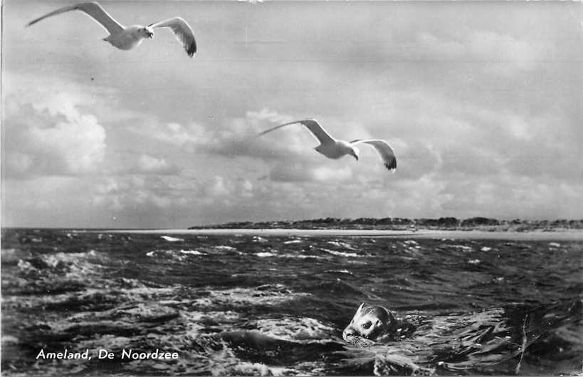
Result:
<svg viewBox="0 0 583 377"><path fill-rule="evenodd" d="M389 171L396 169L396 157L391 146L386 141L379 139L372 140L357 139L352 140L350 142L344 140L336 140L335 138L332 138L332 136L330 136L330 134L328 134L324 130L324 128L322 128L322 126L319 123L317 123L317 120L315 119L295 120L294 122L285 123L283 125L277 125L273 128L270 128L259 133L258 136L264 135L273 130L277 130L278 128L282 128L285 125L293 124L305 125L305 127L308 128L308 130L310 130L312 135L314 135L315 138L317 138L317 140L320 142L320 145L318 145L314 149L328 158L337 159L344 155L351 155L356 160L358 160L358 150L354 146L364 143L372 145L374 149L377 150L377 153L379 153L379 156L381 156L383 160L384 166L387 167Z"/></svg>

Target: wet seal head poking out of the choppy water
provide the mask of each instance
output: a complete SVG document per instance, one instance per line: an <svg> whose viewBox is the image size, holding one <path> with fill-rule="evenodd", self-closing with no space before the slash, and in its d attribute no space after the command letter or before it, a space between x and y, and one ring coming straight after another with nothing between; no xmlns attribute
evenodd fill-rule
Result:
<svg viewBox="0 0 583 377"><path fill-rule="evenodd" d="M362 346L387 339L396 331L396 319L384 306L360 304L342 338Z"/></svg>

